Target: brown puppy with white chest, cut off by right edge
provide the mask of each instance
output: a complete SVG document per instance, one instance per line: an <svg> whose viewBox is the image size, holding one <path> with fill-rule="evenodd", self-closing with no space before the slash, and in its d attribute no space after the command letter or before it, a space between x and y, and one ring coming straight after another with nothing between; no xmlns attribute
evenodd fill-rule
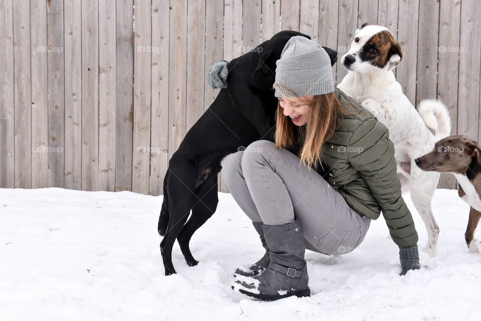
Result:
<svg viewBox="0 0 481 321"><path fill-rule="evenodd" d="M436 142L434 149L414 160L425 171L453 173L459 188L458 195L471 206L466 233L470 252L479 252L473 234L481 217L481 147L464 135L448 136Z"/></svg>

